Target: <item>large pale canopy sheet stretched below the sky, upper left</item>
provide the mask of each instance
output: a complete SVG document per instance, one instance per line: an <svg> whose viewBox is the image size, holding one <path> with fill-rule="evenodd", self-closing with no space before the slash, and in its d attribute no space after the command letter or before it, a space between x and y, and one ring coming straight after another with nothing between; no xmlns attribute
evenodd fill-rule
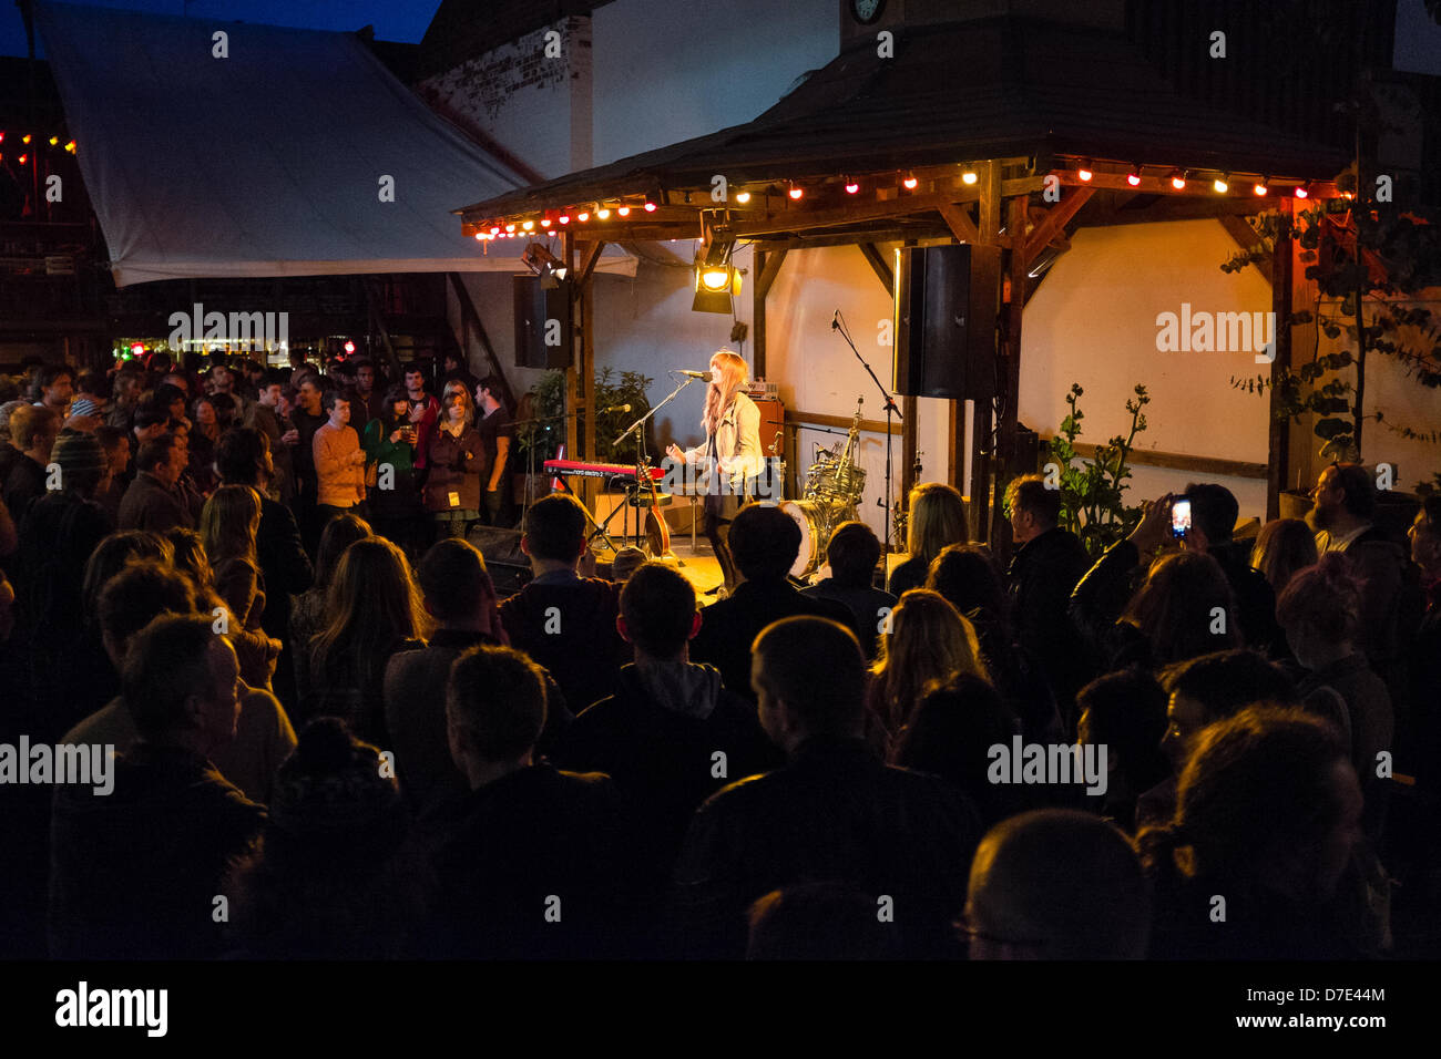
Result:
<svg viewBox="0 0 1441 1059"><path fill-rule="evenodd" d="M454 210L527 182L354 35L49 3L36 24L117 287L525 271L522 241L481 245Z"/></svg>

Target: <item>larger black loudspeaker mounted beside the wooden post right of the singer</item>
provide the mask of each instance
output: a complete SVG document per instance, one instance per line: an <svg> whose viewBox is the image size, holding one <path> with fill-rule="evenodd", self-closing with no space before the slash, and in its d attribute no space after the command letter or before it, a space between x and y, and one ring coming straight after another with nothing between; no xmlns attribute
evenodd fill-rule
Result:
<svg viewBox="0 0 1441 1059"><path fill-rule="evenodd" d="M892 389L989 401L996 388L1000 246L902 246L895 268Z"/></svg>

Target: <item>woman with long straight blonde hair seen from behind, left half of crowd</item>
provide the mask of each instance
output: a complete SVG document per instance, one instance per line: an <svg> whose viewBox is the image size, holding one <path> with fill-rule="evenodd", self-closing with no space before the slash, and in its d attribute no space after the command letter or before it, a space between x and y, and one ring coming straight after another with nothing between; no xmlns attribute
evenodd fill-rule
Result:
<svg viewBox="0 0 1441 1059"><path fill-rule="evenodd" d="M295 683L305 718L344 720L365 741L389 746L385 667L392 654L425 647L429 621L405 552L385 537L357 540L340 556L327 596L330 624L308 644Z"/></svg>

